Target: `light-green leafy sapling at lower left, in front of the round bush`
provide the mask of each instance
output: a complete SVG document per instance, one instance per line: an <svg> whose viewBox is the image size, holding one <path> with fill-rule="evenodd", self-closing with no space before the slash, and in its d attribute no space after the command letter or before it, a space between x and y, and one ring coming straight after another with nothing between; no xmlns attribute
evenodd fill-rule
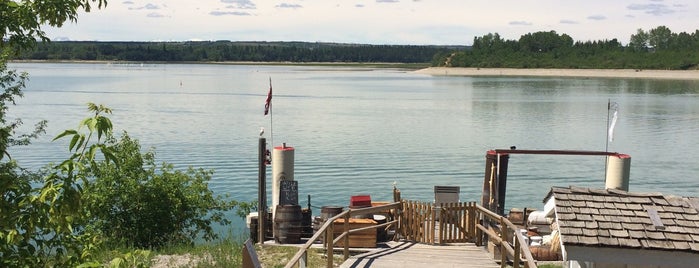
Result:
<svg viewBox="0 0 699 268"><path fill-rule="evenodd" d="M56 137L72 136L69 145L72 154L50 167L40 181L36 177L18 176L21 174L13 161L3 163L0 266L98 265L91 260L99 246L99 237L83 228L82 186L97 163L98 151L105 161L113 161L114 157L101 143L112 129L111 121L102 114L111 111L96 105L90 105L89 110L95 115L83 120L78 130L66 130ZM32 182L42 186L31 187Z"/></svg>

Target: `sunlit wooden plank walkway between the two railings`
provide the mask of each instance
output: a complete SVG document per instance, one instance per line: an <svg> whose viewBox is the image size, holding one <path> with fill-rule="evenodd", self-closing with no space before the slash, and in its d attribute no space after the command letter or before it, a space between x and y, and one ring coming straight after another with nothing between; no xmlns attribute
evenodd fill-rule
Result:
<svg viewBox="0 0 699 268"><path fill-rule="evenodd" d="M401 241L386 244L387 248L351 256L340 267L500 267L485 250L473 243L433 246Z"/></svg>

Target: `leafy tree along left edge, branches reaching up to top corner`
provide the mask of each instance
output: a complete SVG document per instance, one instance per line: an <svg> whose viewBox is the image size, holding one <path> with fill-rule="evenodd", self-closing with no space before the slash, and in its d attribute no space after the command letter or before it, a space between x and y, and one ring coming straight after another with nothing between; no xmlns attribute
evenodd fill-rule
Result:
<svg viewBox="0 0 699 268"><path fill-rule="evenodd" d="M106 5L105 0L0 1L0 266L90 264L95 241L74 228L81 216L75 175L89 157L71 158L43 179L11 159L8 149L29 144L44 132L46 122L39 122L32 133L16 133L22 121L8 121L7 110L22 97L28 75L8 70L6 62L11 53L32 47L37 39L48 40L42 25L75 22L79 11L90 11L91 3Z"/></svg>

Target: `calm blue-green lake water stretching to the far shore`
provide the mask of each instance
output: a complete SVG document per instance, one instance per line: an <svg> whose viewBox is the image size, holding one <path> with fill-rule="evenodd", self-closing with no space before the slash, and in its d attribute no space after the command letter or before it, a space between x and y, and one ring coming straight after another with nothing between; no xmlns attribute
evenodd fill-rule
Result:
<svg viewBox="0 0 699 268"><path fill-rule="evenodd" d="M51 139L114 110L160 161L214 169L210 187L257 199L257 139L296 148L300 200L343 205L351 195L431 201L434 185L480 200L490 149L605 150L607 101L619 104L610 151L631 155L631 191L699 196L699 82L431 77L405 70L233 65L11 64L30 73L10 109L48 134L13 157L38 168L68 156ZM273 125L263 116L269 78ZM273 137L269 133L273 132ZM271 168L268 169L268 174ZM604 158L513 155L508 207L543 207L551 186L604 187ZM272 187L268 186L271 191ZM271 197L268 198L271 202ZM302 202L305 204L305 202Z"/></svg>

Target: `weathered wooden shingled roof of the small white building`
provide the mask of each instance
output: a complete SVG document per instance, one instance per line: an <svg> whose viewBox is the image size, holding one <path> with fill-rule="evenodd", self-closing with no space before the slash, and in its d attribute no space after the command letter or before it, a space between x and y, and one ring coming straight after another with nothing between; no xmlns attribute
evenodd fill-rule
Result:
<svg viewBox="0 0 699 268"><path fill-rule="evenodd" d="M699 253L699 199L553 187L564 245Z"/></svg>

